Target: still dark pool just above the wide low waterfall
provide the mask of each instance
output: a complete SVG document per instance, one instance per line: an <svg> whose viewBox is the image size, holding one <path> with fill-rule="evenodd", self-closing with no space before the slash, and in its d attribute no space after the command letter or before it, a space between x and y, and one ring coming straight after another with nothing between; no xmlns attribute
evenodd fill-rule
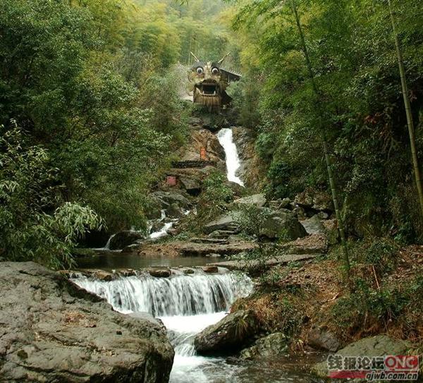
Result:
<svg viewBox="0 0 423 383"><path fill-rule="evenodd" d="M77 260L80 269L143 269L145 267L194 267L207 263L222 262L223 257L168 257L155 255L147 257L137 253L120 253L115 251L99 251L95 255L80 257Z"/></svg>

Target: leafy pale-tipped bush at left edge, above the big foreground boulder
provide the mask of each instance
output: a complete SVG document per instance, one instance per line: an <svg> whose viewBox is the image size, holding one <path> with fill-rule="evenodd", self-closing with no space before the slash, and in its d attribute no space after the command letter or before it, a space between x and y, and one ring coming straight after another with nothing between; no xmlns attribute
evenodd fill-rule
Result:
<svg viewBox="0 0 423 383"><path fill-rule="evenodd" d="M101 229L101 220L90 207L61 200L62 186L47 150L26 141L16 126L1 127L0 255L56 269L71 267L78 239Z"/></svg>

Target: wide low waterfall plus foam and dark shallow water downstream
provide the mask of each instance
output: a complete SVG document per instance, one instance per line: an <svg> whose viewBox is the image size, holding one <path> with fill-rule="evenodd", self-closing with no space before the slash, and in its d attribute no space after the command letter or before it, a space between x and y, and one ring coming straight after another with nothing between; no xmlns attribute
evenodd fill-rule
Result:
<svg viewBox="0 0 423 383"><path fill-rule="evenodd" d="M119 312L128 315L149 312L164 323L175 349L172 383L312 382L307 373L299 371L302 360L298 365L282 358L262 363L231 363L223 357L195 353L195 334L219 322L236 298L252 292L252 281L245 274L225 270L205 274L198 270L195 274L181 273L169 278L140 274L114 281L85 276L72 280L106 298Z"/></svg>

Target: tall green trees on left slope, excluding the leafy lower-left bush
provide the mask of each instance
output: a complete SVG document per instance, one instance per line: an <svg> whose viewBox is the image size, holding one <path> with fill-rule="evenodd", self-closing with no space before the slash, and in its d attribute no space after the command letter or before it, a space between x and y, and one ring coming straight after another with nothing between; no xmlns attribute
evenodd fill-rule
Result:
<svg viewBox="0 0 423 383"><path fill-rule="evenodd" d="M15 118L49 153L63 200L111 231L145 224L147 191L186 138L164 17L132 0L2 3L0 123Z"/></svg>

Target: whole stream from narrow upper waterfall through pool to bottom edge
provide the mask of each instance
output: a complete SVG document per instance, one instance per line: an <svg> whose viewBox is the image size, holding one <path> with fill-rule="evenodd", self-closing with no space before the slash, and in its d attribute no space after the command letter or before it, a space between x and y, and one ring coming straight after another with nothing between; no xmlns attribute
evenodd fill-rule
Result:
<svg viewBox="0 0 423 383"><path fill-rule="evenodd" d="M217 137L225 150L228 180L244 186L236 175L240 160L232 130L221 129ZM161 219L157 221L165 218L162 212ZM150 231L149 238L166 236L175 221L164 224L157 231ZM150 227L153 227L152 223ZM109 271L120 268L195 267L221 260L218 257L144 257L136 252L121 254L110 251L109 243L110 239L104 248L96 249L94 257L78 261L79 267ZM313 382L307 372L302 372L308 363L304 358L267 358L260 363L252 363L233 358L204 357L195 352L195 335L225 317L237 298L252 293L252 280L245 274L219 267L217 274L206 274L202 269L195 269L193 274L183 274L173 269L173 274L167 278L139 272L113 281L87 278L82 274L72 280L105 298L123 314L142 315L140 313L148 312L163 322L175 349L170 377L172 383Z"/></svg>

